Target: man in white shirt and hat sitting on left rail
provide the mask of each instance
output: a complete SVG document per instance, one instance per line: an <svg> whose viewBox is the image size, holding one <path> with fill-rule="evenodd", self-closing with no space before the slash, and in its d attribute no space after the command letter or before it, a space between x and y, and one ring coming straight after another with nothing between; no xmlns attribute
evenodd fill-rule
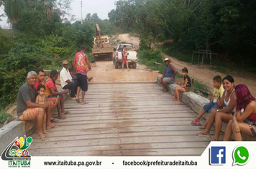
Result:
<svg viewBox="0 0 256 169"><path fill-rule="evenodd" d="M63 69L60 71L60 84L63 90L69 89L71 91L70 97L76 100L76 91L78 85L73 82L73 79L68 70L68 61L63 60Z"/></svg>

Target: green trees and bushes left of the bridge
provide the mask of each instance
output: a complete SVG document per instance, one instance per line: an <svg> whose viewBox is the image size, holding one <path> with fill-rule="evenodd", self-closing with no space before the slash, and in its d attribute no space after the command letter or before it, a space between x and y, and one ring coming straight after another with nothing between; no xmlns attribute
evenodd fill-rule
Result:
<svg viewBox="0 0 256 169"><path fill-rule="evenodd" d="M74 21L69 14L68 1L1 1L12 29L0 27L0 107L16 102L19 87L27 72L37 69L61 69L63 59L73 59L81 44L91 52L95 24L101 34L127 32L100 19L98 14L87 14ZM2 16L2 14L0 14ZM1 19L1 18L0 18ZM76 20L76 19L75 19ZM92 55L89 54L89 59Z"/></svg>

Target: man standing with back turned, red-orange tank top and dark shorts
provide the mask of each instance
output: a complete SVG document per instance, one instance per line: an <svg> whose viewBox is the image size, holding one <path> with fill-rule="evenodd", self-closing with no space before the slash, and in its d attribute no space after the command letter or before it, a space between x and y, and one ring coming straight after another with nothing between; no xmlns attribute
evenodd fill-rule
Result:
<svg viewBox="0 0 256 169"><path fill-rule="evenodd" d="M84 101L84 97L88 90L86 64L89 70L91 69L91 65L90 65L88 56L85 54L86 47L84 45L81 45L80 49L81 51L77 52L74 58L74 64L75 64L74 68L76 72L76 77L78 79L78 90L76 92L76 101L81 102L81 105L83 105L88 103ZM82 89L82 100L80 101L79 92L81 89Z"/></svg>

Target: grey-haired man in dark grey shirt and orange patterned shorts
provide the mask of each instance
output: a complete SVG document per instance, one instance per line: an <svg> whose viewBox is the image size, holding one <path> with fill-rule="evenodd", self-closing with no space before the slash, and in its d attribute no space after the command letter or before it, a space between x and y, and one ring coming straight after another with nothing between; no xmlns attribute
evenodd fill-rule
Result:
<svg viewBox="0 0 256 169"><path fill-rule="evenodd" d="M27 74L27 82L19 88L17 96L17 115L19 120L33 120L37 118L37 135L40 140L47 140L42 132L42 122L47 110L47 115L50 111L47 109L49 102L45 104L36 104L35 98L37 96L37 90L34 85L37 82L37 73L31 71Z"/></svg>

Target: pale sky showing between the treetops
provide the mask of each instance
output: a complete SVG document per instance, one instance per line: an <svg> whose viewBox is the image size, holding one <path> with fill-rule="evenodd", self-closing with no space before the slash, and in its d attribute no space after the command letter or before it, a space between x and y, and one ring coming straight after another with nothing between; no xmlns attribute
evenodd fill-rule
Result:
<svg viewBox="0 0 256 169"><path fill-rule="evenodd" d="M76 15L77 20L81 20L81 1L83 2L83 19L86 17L86 14L97 13L100 19L109 19L108 13L112 9L115 9L115 1L118 0L73 0L70 4L70 14ZM4 13L3 6L0 8L0 14ZM0 21L2 28L7 29L8 24L6 24L6 17L1 17L3 21Z"/></svg>

